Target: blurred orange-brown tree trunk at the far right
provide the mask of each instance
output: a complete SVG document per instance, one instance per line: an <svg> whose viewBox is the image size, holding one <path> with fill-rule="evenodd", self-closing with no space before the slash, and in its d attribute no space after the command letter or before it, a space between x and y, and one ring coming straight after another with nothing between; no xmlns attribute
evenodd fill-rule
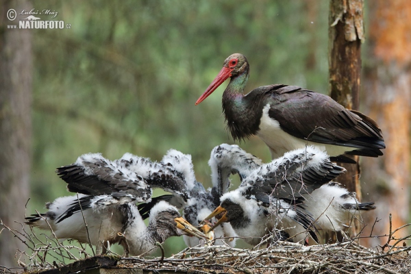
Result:
<svg viewBox="0 0 411 274"><path fill-rule="evenodd" d="M373 1L370 18L364 107L381 127L386 149L383 157L362 160L364 193L377 206L367 214L370 224L364 234L371 234L377 219L373 235L382 236L389 232L390 213L393 229L408 223L410 214L411 1ZM394 236L409 234L406 228ZM386 237L369 239L371 246L386 242Z"/></svg>

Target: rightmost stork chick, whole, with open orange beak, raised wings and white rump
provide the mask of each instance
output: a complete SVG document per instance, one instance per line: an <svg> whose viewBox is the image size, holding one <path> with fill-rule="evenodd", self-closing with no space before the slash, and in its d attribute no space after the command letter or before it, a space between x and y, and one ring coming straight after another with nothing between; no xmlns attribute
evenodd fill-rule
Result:
<svg viewBox="0 0 411 274"><path fill-rule="evenodd" d="M219 174L238 173L242 183L223 195L221 205L209 216L220 215L215 225L232 223L238 235L251 237L246 241L252 245L274 227L286 232L283 239L292 236L297 242L305 240L307 232L316 239L316 230L344 232L354 218L375 209L373 202L360 203L355 192L336 182L324 184L344 169L316 147L289 151L269 164L261 164L236 145L223 144L214 150L220 151L214 153L215 161L224 166Z"/></svg>

